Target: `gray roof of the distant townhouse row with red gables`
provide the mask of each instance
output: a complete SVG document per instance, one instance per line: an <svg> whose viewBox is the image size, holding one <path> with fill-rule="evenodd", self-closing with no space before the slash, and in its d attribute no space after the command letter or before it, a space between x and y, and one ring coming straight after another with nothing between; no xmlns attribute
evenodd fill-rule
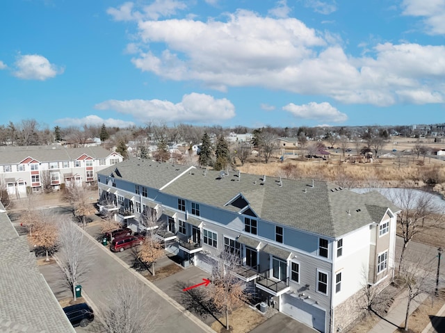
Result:
<svg viewBox="0 0 445 333"><path fill-rule="evenodd" d="M103 147L67 148L60 145L0 147L1 164L17 164L27 157L32 157L39 162L73 161L83 154L94 159L105 159L112 152Z"/></svg>

